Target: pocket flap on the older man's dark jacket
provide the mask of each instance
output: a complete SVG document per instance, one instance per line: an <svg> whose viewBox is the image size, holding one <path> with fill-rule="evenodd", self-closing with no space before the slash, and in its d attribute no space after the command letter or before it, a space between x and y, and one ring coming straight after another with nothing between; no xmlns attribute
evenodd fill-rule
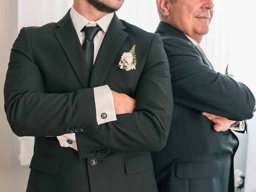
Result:
<svg viewBox="0 0 256 192"><path fill-rule="evenodd" d="M178 178L212 178L220 174L220 160L210 162L178 162Z"/></svg>

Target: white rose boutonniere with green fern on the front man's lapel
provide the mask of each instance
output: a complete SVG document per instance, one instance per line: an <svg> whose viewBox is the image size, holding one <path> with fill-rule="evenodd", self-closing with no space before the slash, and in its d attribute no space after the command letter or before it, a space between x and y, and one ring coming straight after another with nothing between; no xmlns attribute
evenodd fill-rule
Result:
<svg viewBox="0 0 256 192"><path fill-rule="evenodd" d="M130 71L136 69L136 54L135 45L132 46L129 52L124 52L121 59L117 65L120 69Z"/></svg>

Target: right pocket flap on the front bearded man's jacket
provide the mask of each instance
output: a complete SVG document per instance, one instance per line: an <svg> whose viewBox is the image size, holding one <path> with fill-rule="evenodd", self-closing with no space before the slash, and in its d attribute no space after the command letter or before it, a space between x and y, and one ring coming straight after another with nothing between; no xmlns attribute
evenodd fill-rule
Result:
<svg viewBox="0 0 256 192"><path fill-rule="evenodd" d="M125 158L124 164L127 174L134 174L153 169L153 163L150 153Z"/></svg>

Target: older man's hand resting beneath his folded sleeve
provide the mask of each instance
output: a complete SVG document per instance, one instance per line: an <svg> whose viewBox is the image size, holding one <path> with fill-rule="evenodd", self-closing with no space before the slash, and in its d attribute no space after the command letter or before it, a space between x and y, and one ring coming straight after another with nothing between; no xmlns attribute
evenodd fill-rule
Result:
<svg viewBox="0 0 256 192"><path fill-rule="evenodd" d="M213 128L216 132L226 131L230 128L232 124L236 122L236 121L232 121L227 118L216 116L214 114L210 114L206 112L202 112L202 115L206 116L208 119L214 122Z"/></svg>

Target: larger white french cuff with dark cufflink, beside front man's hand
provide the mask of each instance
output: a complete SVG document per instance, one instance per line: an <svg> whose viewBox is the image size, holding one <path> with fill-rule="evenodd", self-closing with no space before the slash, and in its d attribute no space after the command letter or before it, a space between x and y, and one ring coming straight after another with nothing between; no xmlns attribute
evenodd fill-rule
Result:
<svg viewBox="0 0 256 192"><path fill-rule="evenodd" d="M94 88L94 99L98 125L116 121L113 95L107 85Z"/></svg>

